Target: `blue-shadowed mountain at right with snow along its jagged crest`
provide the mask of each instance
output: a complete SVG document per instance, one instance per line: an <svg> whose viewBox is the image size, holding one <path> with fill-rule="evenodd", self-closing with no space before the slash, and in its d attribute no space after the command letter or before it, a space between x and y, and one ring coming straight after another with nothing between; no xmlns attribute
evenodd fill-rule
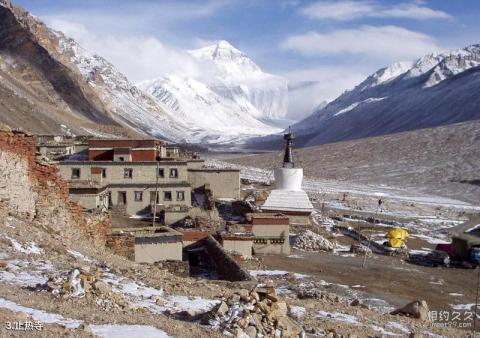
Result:
<svg viewBox="0 0 480 338"><path fill-rule="evenodd" d="M480 45L398 62L293 126L317 145L480 119Z"/></svg>

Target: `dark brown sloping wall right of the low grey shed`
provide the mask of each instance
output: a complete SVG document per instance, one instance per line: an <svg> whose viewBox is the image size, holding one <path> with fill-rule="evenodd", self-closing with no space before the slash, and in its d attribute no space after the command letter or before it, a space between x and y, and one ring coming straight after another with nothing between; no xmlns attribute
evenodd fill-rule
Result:
<svg viewBox="0 0 480 338"><path fill-rule="evenodd" d="M205 238L205 247L209 256L215 262L218 275L229 281L251 280L249 273L225 251L225 249L212 236Z"/></svg>

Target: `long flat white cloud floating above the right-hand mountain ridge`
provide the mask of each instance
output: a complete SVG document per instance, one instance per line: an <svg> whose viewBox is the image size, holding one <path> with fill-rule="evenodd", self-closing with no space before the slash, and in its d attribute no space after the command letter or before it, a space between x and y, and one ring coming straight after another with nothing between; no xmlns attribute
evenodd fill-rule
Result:
<svg viewBox="0 0 480 338"><path fill-rule="evenodd" d="M411 60L441 48L430 36L397 26L362 26L287 37L281 48L303 55L361 55L372 60Z"/></svg>

